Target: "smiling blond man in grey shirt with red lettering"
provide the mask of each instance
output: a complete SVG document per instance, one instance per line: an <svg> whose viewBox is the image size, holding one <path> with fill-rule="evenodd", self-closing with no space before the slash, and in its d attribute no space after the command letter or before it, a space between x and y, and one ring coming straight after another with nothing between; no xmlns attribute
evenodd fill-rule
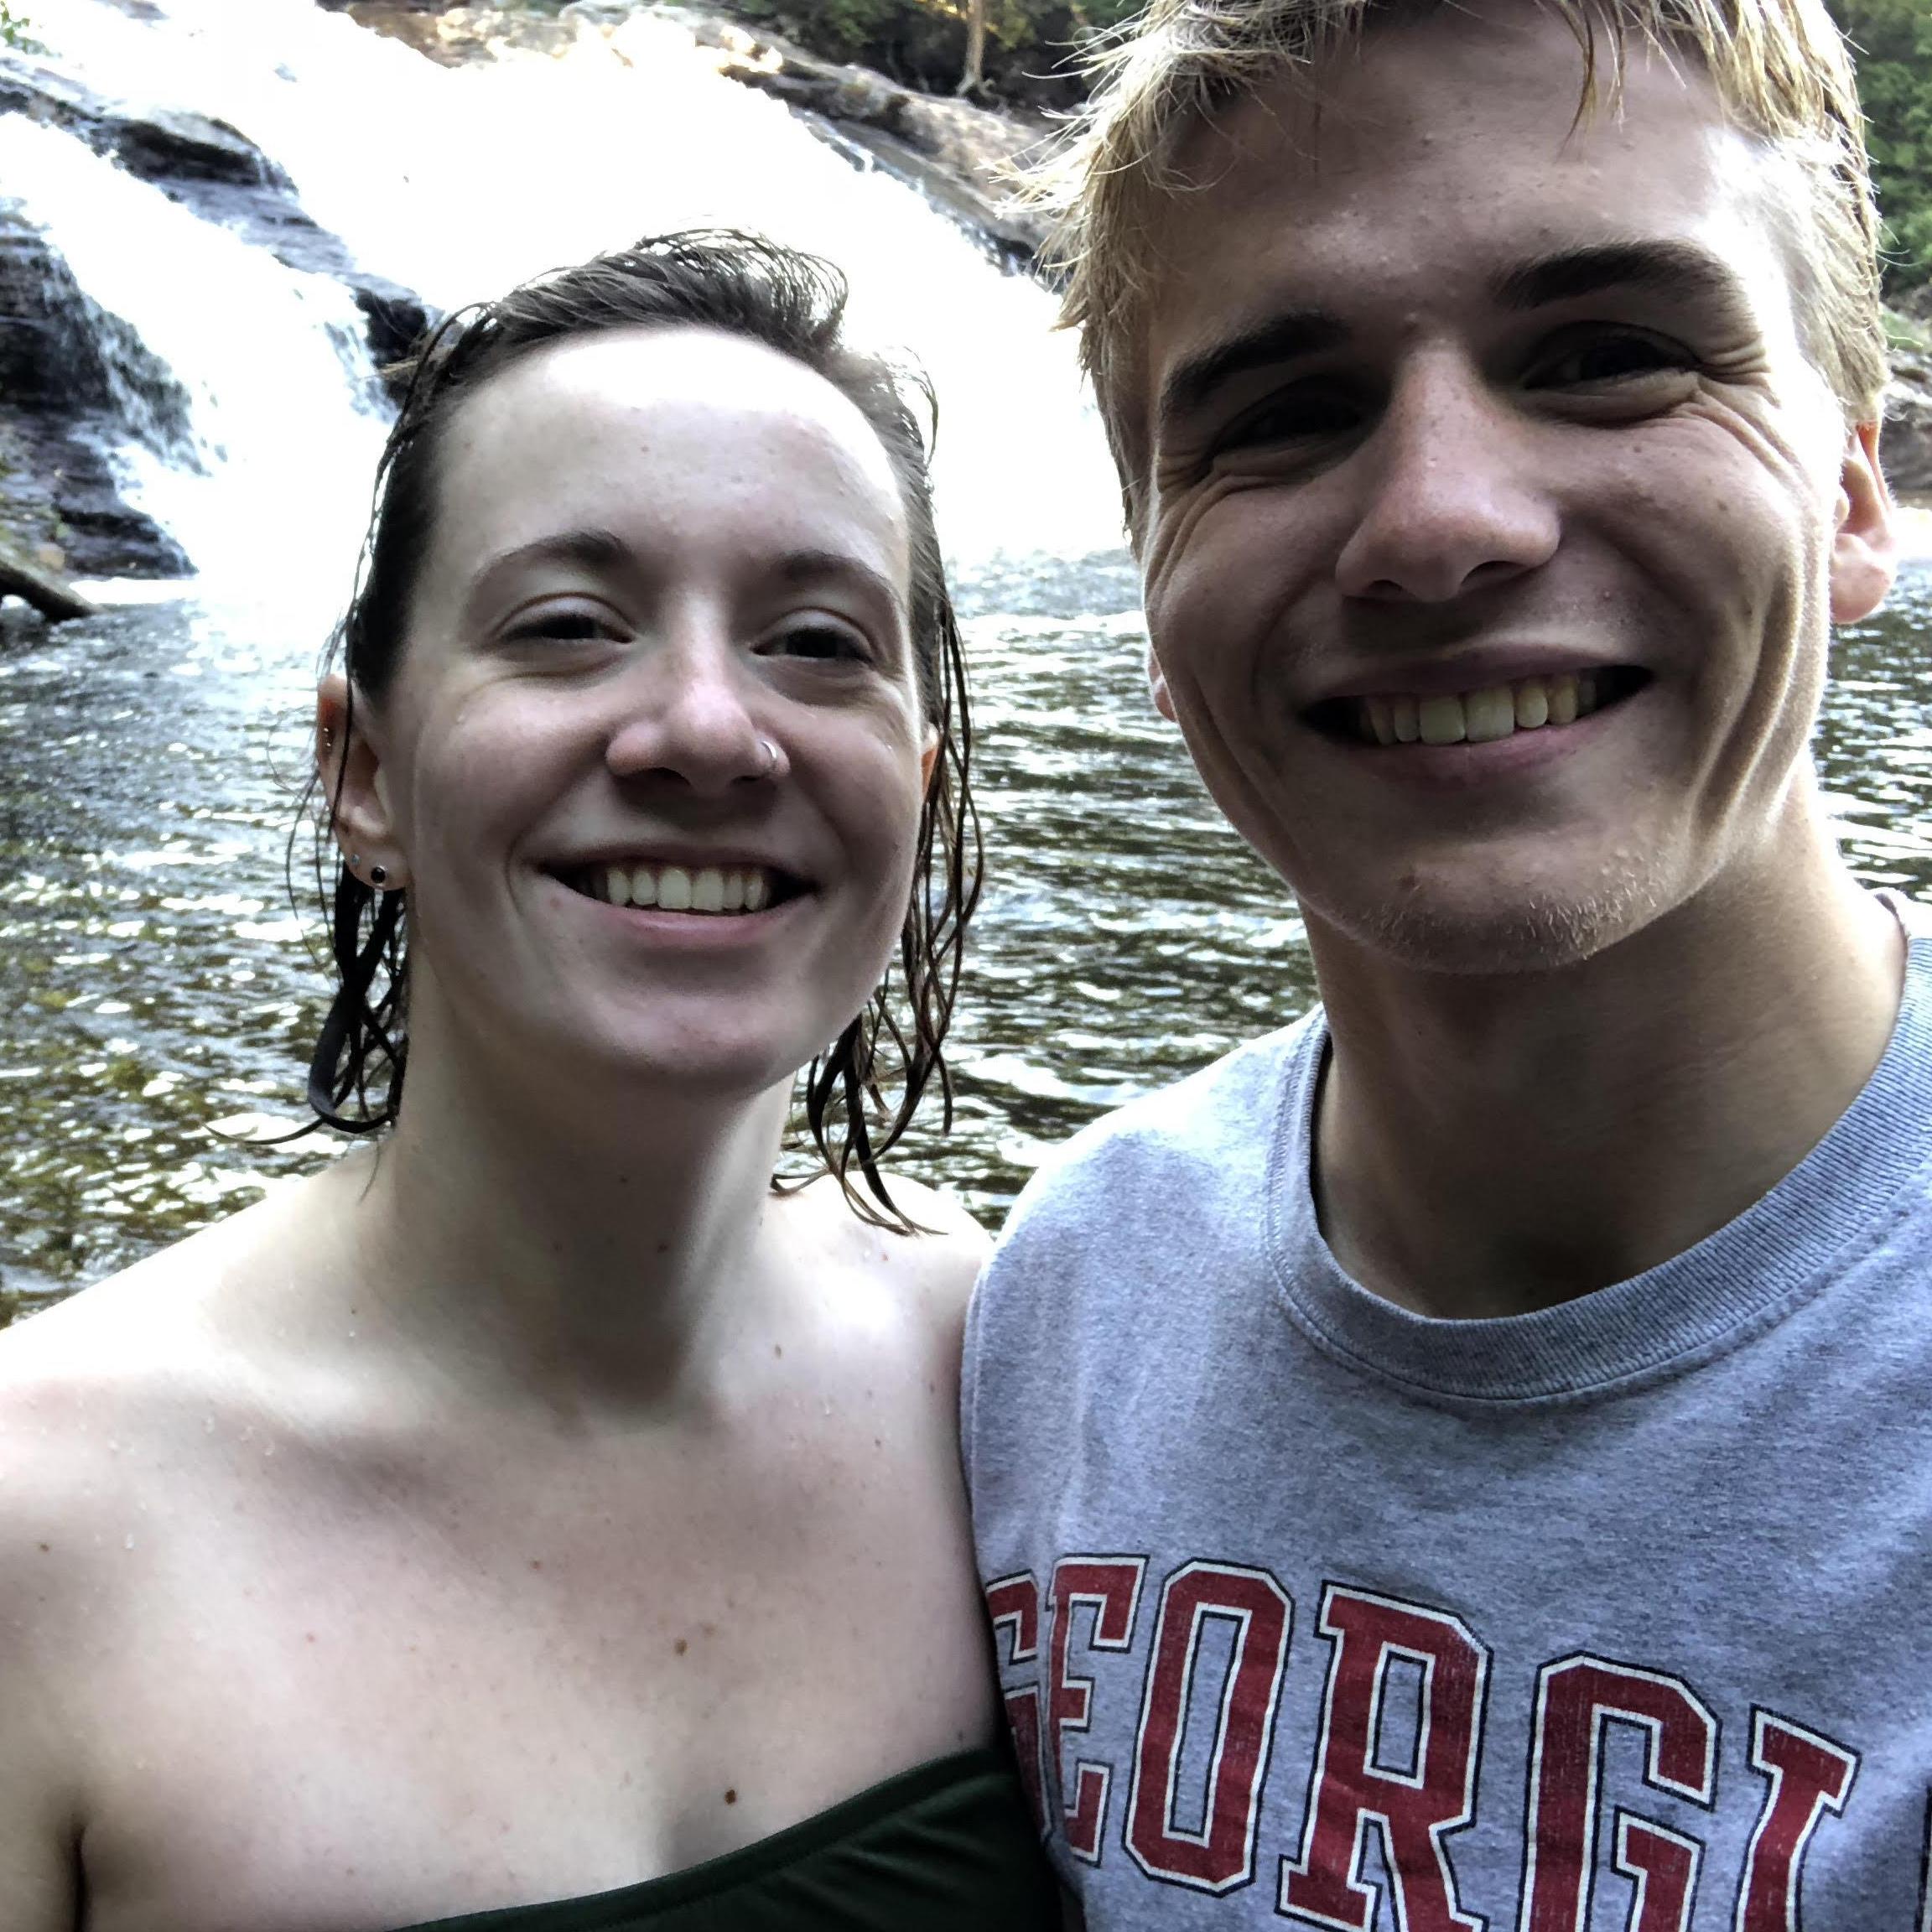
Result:
<svg viewBox="0 0 1932 1932"><path fill-rule="evenodd" d="M1932 949L1820 0L1161 0L1063 226L1153 697L1323 1014L1080 1136L964 1395L1094 1932L1911 1932Z"/></svg>

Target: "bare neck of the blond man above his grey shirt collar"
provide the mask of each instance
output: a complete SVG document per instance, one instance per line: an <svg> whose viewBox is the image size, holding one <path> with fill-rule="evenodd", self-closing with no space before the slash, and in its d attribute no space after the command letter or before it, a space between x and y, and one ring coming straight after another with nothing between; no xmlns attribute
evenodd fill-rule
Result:
<svg viewBox="0 0 1932 1932"><path fill-rule="evenodd" d="M1418 972L1312 920L1333 1039L1314 1186L1341 1265L1420 1314L1524 1314L1685 1252L1791 1173L1878 1065L1903 976L1897 922L1801 831L1546 974Z"/></svg>

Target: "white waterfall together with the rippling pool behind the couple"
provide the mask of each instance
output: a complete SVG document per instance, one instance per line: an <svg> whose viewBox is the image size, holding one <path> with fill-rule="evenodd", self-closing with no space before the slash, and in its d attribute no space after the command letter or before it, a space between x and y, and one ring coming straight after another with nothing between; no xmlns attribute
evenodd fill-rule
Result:
<svg viewBox="0 0 1932 1932"><path fill-rule="evenodd" d="M726 220L829 253L862 340L918 348L987 891L956 1126L900 1165L991 1223L1043 1148L1306 1009L1293 904L1148 703L1105 450L1043 290L663 15L452 71L311 0L29 12L62 71L238 126L363 267L439 307ZM4 1321L340 1151L249 1136L299 1126L323 1007L290 835L381 402L336 284L23 116L0 116L0 182L180 383L185 456L116 460L203 572L60 630L0 611ZM1932 572L1843 636L1820 757L1859 871L1932 896Z"/></svg>

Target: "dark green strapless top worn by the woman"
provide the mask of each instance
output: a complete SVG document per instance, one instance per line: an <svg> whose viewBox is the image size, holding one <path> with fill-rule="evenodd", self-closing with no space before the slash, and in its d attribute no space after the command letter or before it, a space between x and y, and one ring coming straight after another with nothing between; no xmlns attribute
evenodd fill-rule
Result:
<svg viewBox="0 0 1932 1932"><path fill-rule="evenodd" d="M966 1750L641 1886L410 1932L1059 1932L1059 1897L1010 1760Z"/></svg>

